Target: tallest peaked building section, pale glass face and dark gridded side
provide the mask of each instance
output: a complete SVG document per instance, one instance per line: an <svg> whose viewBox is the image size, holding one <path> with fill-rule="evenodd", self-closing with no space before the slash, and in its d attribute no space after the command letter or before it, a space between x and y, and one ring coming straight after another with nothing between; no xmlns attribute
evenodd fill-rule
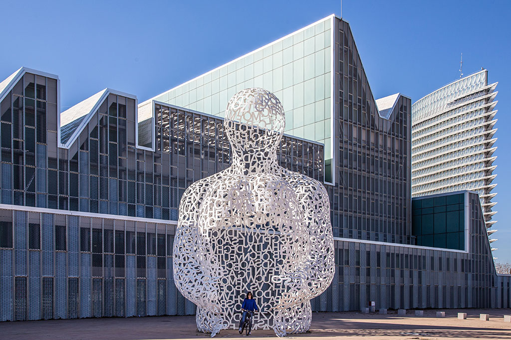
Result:
<svg viewBox="0 0 511 340"><path fill-rule="evenodd" d="M281 98L289 134L324 144L334 236L410 244L411 101L400 94L374 99L349 24L334 15L139 110L160 100L221 116L231 95L254 86Z"/></svg>

